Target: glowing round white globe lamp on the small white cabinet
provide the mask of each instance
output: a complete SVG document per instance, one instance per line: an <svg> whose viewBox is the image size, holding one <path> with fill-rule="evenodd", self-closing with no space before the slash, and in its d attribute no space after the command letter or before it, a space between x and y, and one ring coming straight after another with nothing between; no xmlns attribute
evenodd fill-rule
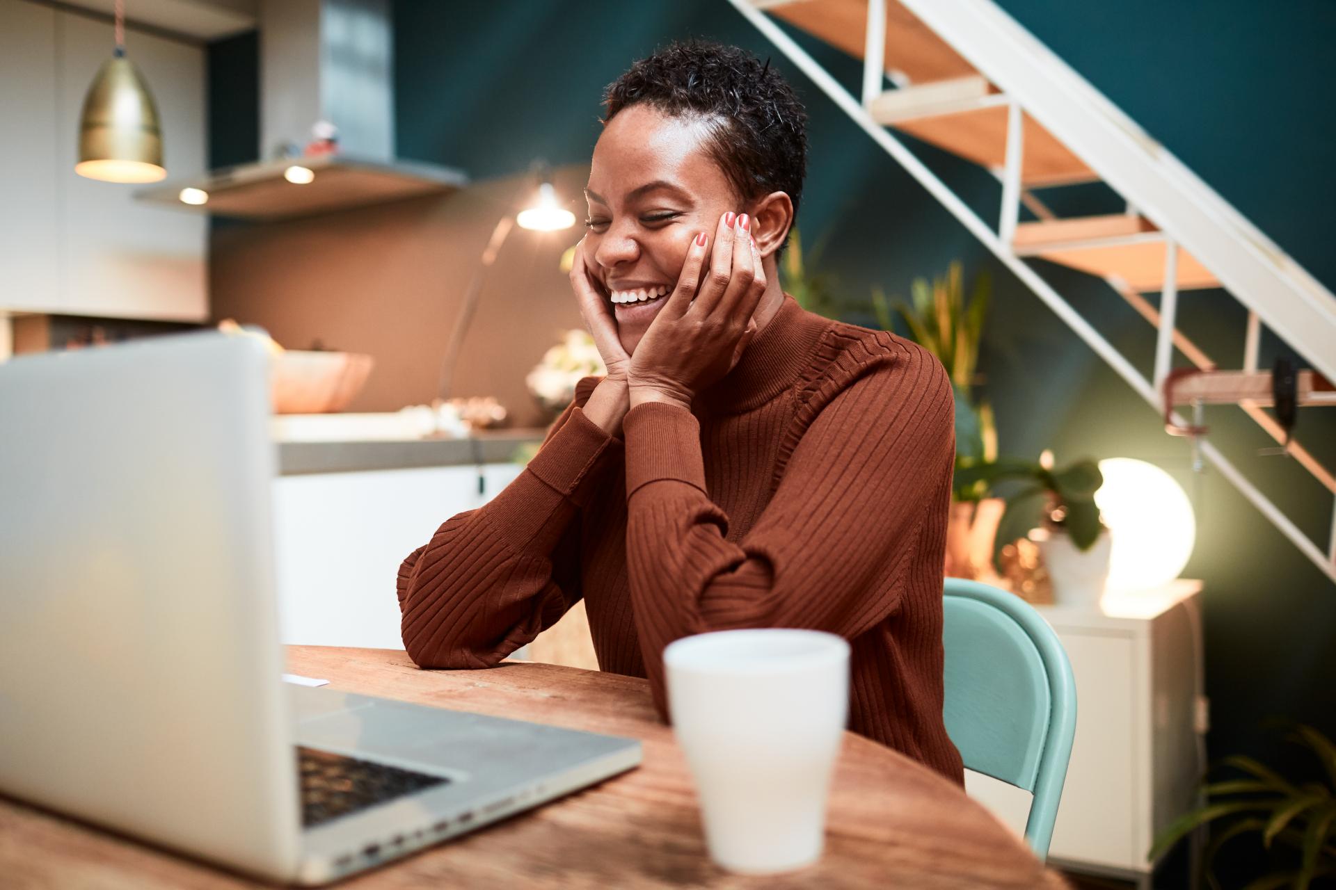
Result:
<svg viewBox="0 0 1336 890"><path fill-rule="evenodd" d="M1178 576L1197 538L1192 502L1173 476L1145 460L1100 462L1104 486L1094 494L1113 539L1109 590L1158 587Z"/></svg>

